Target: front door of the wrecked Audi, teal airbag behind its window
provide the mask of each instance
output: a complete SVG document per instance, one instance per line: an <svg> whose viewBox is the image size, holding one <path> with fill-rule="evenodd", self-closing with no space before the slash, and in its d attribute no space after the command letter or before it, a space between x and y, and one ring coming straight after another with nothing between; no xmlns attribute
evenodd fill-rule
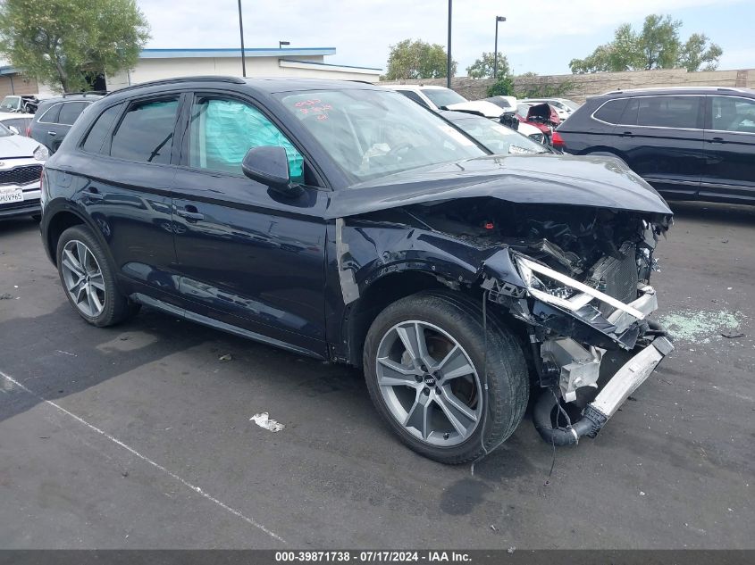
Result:
<svg viewBox="0 0 755 565"><path fill-rule="evenodd" d="M328 191L270 114L244 97L197 93L187 106L173 224L185 308L218 327L326 355L323 211ZM298 197L247 179L253 146L289 156Z"/></svg>

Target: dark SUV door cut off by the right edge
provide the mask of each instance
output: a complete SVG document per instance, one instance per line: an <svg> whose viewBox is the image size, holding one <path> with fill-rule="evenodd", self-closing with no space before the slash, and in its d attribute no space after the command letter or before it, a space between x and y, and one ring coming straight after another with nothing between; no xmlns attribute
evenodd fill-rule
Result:
<svg viewBox="0 0 755 565"><path fill-rule="evenodd" d="M755 198L755 100L706 96L706 166L700 196L706 200Z"/></svg>

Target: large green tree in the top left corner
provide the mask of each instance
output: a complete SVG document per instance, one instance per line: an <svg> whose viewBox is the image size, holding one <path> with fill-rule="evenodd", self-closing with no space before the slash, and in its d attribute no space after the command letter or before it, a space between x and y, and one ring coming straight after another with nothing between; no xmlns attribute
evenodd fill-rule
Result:
<svg viewBox="0 0 755 565"><path fill-rule="evenodd" d="M4 0L0 54L24 74L63 92L132 69L149 39L134 0Z"/></svg>

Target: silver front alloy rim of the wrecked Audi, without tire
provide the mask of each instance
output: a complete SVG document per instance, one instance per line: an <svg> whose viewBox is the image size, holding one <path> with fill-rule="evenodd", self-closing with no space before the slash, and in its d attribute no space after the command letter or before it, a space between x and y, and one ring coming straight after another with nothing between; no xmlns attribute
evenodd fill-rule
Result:
<svg viewBox="0 0 755 565"><path fill-rule="evenodd" d="M377 384L391 416L430 445L464 442L482 420L482 387L454 337L421 321L402 321L378 345Z"/></svg>

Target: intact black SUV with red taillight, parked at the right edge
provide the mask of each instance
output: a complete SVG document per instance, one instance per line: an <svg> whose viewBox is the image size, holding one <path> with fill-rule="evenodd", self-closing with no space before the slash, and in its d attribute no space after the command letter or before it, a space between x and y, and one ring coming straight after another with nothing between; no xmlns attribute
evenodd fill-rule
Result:
<svg viewBox="0 0 755 565"><path fill-rule="evenodd" d="M663 195L755 204L755 90L593 96L558 128L571 154L615 154Z"/></svg>

